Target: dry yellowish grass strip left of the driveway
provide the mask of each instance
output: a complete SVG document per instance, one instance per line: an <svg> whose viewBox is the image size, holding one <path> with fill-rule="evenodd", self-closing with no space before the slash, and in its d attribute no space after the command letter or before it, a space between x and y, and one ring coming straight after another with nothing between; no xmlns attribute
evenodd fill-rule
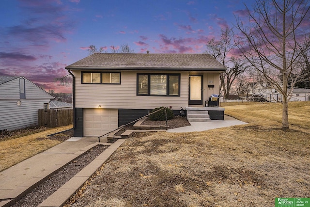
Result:
<svg viewBox="0 0 310 207"><path fill-rule="evenodd" d="M0 142L0 171L61 143L57 140L40 138L45 138L49 134L69 128L72 128L72 125L52 128L35 134L29 134L29 131L27 131L23 136L19 134L18 138L2 140Z"/></svg>

